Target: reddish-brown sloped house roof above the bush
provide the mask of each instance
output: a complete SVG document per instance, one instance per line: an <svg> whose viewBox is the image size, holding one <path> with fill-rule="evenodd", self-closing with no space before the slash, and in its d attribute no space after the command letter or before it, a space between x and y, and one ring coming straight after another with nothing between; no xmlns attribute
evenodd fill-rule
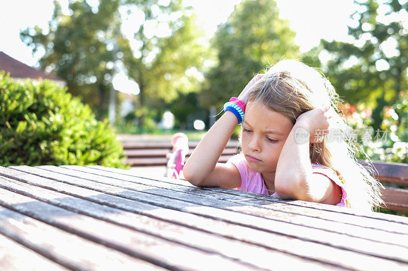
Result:
<svg viewBox="0 0 408 271"><path fill-rule="evenodd" d="M5 71L10 73L10 77L13 78L30 78L30 79L51 79L55 81L64 81L63 79L46 74L41 70L37 70L33 67L25 65L22 62L19 62L17 59L5 54L0 51L0 71Z"/></svg>

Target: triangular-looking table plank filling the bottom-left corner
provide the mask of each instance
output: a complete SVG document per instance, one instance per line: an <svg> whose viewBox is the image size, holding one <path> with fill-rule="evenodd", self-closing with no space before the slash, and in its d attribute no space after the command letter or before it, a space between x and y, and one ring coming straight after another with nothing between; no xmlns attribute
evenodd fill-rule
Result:
<svg viewBox="0 0 408 271"><path fill-rule="evenodd" d="M0 211L1 213L1 211ZM69 270L0 234L0 269Z"/></svg>

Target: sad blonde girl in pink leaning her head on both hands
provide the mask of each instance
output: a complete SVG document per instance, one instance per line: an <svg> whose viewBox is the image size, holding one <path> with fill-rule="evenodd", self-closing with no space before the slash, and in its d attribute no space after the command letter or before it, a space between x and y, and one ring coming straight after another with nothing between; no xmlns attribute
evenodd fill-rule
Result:
<svg viewBox="0 0 408 271"><path fill-rule="evenodd" d="M337 113L338 95L315 69L284 60L252 78L186 162L201 187L239 190L369 210L381 186L355 161L357 146ZM238 124L242 153L217 163Z"/></svg>

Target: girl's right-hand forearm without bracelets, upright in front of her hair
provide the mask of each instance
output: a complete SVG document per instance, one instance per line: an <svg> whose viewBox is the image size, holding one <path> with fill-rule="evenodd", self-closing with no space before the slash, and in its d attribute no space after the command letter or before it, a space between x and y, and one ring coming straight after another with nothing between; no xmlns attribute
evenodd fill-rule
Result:
<svg viewBox="0 0 408 271"><path fill-rule="evenodd" d="M275 189L280 198L307 200L312 174L309 132L295 124L282 148L276 165Z"/></svg>

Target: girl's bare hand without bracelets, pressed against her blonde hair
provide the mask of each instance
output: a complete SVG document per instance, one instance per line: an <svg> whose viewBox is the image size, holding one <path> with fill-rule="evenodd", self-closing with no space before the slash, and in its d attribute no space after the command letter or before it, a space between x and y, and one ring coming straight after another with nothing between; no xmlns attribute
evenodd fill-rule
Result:
<svg viewBox="0 0 408 271"><path fill-rule="evenodd" d="M323 137L329 133L329 119L333 117L332 110L325 105L304 112L297 117L298 127L306 129L310 134L310 143L321 143Z"/></svg>

